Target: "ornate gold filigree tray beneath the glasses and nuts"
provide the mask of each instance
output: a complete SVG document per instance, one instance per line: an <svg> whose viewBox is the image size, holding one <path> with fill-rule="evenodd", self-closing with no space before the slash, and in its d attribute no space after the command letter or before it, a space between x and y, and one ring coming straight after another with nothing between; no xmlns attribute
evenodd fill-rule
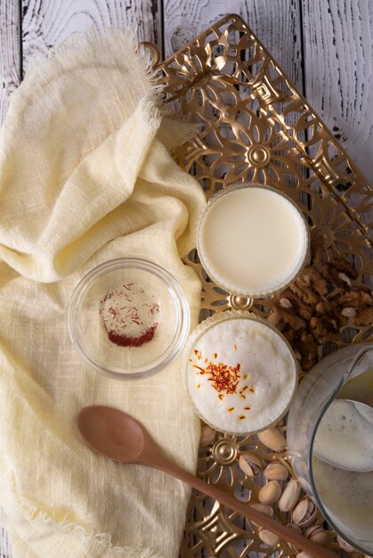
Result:
<svg viewBox="0 0 373 558"><path fill-rule="evenodd" d="M191 253L187 263L203 284L201 318L247 308L270 320L296 350L301 375L329 350L372 340L372 187L246 23L236 15L223 18L158 69L166 102L199 124L199 133L175 150L174 158L197 177L207 197L237 182L272 185L296 201L311 230L310 265L270 300L223 291L207 277L198 254ZM199 475L255 504L269 476L275 475L282 493L295 479L285 446L286 421L260 437L243 439L204 426ZM241 462L240 468L239 455L247 452L248 466ZM273 462L284 467L268 468ZM308 515L299 506L304 499ZM276 497L266 511L321 544L358 554L312 505L301 492L289 509ZM245 558L252 552L290 556L299 551L193 493L182 557Z"/></svg>

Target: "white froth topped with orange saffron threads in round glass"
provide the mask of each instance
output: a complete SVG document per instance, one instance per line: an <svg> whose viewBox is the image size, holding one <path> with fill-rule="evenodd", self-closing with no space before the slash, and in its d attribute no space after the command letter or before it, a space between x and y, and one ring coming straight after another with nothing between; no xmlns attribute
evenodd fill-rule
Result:
<svg viewBox="0 0 373 558"><path fill-rule="evenodd" d="M222 371L222 364L231 372L228 390L209 372ZM216 430L260 431L288 408L296 389L296 362L270 327L236 317L213 324L193 344L187 383L200 416Z"/></svg>

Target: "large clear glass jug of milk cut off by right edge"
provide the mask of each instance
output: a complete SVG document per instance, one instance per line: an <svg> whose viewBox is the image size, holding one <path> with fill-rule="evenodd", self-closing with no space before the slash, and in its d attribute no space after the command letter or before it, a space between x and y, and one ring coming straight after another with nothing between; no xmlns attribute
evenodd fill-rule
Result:
<svg viewBox="0 0 373 558"><path fill-rule="evenodd" d="M359 343L337 350L314 366L300 383L288 414L288 452L304 489L315 498L329 525L347 543L364 554L373 555L373 471L344 469L349 462L348 436L337 424L334 435L326 440L322 421L336 399L352 399L373 406L373 345ZM347 413L348 414L348 413ZM330 414L328 414L330 417ZM355 423L355 436L364 439L357 415L351 411L336 420ZM333 429L335 430L335 429ZM319 436L319 438L318 438ZM373 431L372 431L373 436ZM338 455L338 465L315 454L320 443L330 455ZM368 456L364 447L358 461Z"/></svg>

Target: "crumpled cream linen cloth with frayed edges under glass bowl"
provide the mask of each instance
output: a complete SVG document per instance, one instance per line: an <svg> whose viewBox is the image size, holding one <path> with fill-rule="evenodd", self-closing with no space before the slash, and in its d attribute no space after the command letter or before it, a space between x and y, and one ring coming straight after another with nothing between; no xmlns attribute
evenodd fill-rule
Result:
<svg viewBox="0 0 373 558"><path fill-rule="evenodd" d="M125 256L166 267L197 322L199 280L181 257L204 194L166 149L182 127L161 118L152 80L130 34L77 38L30 68L2 130L0 505L14 558L178 555L190 490L95 455L76 416L123 409L192 471L199 421L181 359L148 380L111 380L67 328L79 279Z"/></svg>

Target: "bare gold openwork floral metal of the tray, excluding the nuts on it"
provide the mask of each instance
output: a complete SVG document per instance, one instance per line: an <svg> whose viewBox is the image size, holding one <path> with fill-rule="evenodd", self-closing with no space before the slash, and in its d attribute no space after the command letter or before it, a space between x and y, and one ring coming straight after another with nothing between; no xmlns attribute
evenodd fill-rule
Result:
<svg viewBox="0 0 373 558"><path fill-rule="evenodd" d="M177 148L174 158L197 177L207 197L239 182L279 188L296 201L309 223L313 247L318 248L310 266L320 269L332 258L344 258L357 270L349 289L369 291L372 186L246 23L236 15L223 18L158 70L166 103L174 103L177 114L199 125L199 133ZM272 315L274 298L247 300L218 288L200 266L195 250L187 263L203 284L202 316L228 308ZM333 285L330 296L339 289ZM373 339L372 324L356 325L351 316L340 330L334 346ZM320 357L328 344L320 343L318 350ZM286 432L285 423L280 430ZM258 502L266 480L260 472L247 477L238 467L239 455L248 450L263 467L272 461L286 464L294 476L286 451L272 451L257 436L239 439L212 433L208 441L200 447L199 475L222 484L248 505ZM292 522L291 513L274 507L280 521ZM320 513L314 524L322 526ZM340 541L330 530L324 543L340 550ZM283 542L264 543L255 525L193 493L182 557L245 558L252 552L266 557L299 551Z"/></svg>

